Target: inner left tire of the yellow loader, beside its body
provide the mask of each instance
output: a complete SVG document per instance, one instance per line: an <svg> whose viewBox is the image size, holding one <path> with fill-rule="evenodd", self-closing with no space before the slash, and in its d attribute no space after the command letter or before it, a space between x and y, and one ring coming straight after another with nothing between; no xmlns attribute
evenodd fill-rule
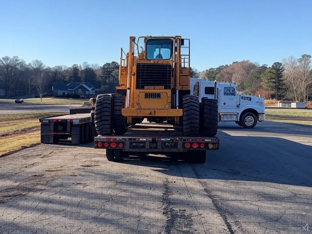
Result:
<svg viewBox="0 0 312 234"><path fill-rule="evenodd" d="M124 95L113 94L113 129L116 135L122 135L127 131L126 121L121 113L124 108Z"/></svg>

